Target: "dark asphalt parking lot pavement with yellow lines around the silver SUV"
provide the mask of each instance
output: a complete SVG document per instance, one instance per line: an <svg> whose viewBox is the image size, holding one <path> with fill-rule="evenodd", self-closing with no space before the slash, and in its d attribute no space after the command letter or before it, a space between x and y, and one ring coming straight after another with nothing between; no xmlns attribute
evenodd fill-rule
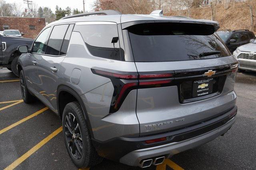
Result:
<svg viewBox="0 0 256 170"><path fill-rule="evenodd" d="M144 170L256 169L256 72L238 73L236 122L224 135ZM19 78L0 69L0 169L77 170L61 132L61 120L40 101L22 102ZM89 169L89 168L88 168ZM90 170L139 170L104 159Z"/></svg>

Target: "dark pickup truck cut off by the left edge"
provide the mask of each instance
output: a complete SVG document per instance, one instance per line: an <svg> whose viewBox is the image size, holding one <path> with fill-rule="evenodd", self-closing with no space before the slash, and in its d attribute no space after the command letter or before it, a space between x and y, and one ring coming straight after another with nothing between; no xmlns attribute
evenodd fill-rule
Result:
<svg viewBox="0 0 256 170"><path fill-rule="evenodd" d="M6 67L15 75L18 75L17 61L20 54L17 48L20 45L28 45L30 47L33 39L21 37L8 37L0 35L0 68Z"/></svg>

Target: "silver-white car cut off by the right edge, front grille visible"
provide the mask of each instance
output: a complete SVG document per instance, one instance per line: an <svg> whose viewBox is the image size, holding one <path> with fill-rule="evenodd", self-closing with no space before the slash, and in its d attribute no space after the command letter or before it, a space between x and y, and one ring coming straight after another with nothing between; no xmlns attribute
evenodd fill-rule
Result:
<svg viewBox="0 0 256 170"><path fill-rule="evenodd" d="M251 40L250 43L238 47L233 55L239 62L240 72L256 71L256 40Z"/></svg>

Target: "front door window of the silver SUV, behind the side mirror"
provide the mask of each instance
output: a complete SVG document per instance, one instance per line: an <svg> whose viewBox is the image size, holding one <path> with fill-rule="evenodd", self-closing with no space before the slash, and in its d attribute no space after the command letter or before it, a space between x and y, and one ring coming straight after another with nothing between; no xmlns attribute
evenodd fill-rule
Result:
<svg viewBox="0 0 256 170"><path fill-rule="evenodd" d="M48 27L44 29L42 33L40 33L40 35L37 37L36 41L34 42L32 52L45 54L48 35L50 33L50 30L51 30L50 27Z"/></svg>

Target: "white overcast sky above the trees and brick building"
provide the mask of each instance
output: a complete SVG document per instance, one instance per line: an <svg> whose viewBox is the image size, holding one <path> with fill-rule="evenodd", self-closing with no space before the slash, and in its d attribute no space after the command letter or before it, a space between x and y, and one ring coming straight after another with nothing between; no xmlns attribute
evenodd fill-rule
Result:
<svg viewBox="0 0 256 170"><path fill-rule="evenodd" d="M23 0L5 0L7 3L17 3L21 4L22 6L26 6L26 4L23 3ZM50 7L52 12L55 12L55 7L58 5L60 8L65 9L67 6L69 6L72 10L74 8L78 8L78 10L83 10L83 0L30 0L33 1L33 3L42 7ZM90 12L93 11L92 4L95 0L84 0L85 1L85 10Z"/></svg>

